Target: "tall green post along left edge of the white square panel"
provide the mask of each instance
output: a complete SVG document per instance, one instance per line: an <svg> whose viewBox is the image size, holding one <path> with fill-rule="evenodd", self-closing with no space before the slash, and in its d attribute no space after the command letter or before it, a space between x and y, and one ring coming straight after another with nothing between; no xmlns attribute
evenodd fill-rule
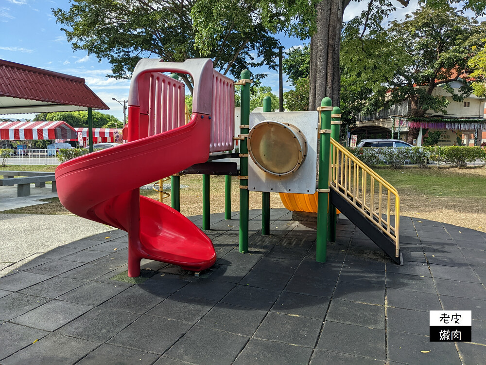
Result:
<svg viewBox="0 0 486 365"><path fill-rule="evenodd" d="M251 73L243 70L241 73L242 80L250 80ZM240 125L250 125L250 82L246 81L241 86L241 118ZM249 128L240 128L241 134L248 134ZM248 176L248 146L246 139L241 141L240 145L240 174ZM240 252L248 251L248 179L240 180Z"/></svg>

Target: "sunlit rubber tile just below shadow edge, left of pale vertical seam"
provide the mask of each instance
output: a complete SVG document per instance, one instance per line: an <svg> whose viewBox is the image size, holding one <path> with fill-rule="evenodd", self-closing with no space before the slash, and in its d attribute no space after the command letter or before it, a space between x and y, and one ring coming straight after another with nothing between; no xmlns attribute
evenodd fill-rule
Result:
<svg viewBox="0 0 486 365"><path fill-rule="evenodd" d="M326 321L385 329L385 307L332 299Z"/></svg>

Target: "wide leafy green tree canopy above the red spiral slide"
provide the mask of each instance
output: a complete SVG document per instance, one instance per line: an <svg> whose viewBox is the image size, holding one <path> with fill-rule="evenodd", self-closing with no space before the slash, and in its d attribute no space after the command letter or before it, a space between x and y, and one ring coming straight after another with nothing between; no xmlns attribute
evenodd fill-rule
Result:
<svg viewBox="0 0 486 365"><path fill-rule="evenodd" d="M195 0L72 0L68 10L52 9L73 50L107 59L113 76L129 78L144 57L166 62L209 57L224 74L239 78L245 68L275 67L278 40L263 26L251 2L202 6ZM191 18L201 2L204 17ZM222 11L224 9L224 12ZM211 19L218 15L218 23ZM210 32L204 31L210 29ZM196 37L203 37L201 47ZM181 75L192 92L190 77ZM263 75L260 75L263 77Z"/></svg>

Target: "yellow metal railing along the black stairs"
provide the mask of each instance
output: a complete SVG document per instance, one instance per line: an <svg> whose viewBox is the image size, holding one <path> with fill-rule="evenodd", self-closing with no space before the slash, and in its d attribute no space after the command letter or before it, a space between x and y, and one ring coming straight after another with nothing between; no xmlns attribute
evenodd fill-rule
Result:
<svg viewBox="0 0 486 365"><path fill-rule="evenodd" d="M397 189L332 138L330 166L330 188L390 237L395 242L395 256L399 257L400 197Z"/></svg>

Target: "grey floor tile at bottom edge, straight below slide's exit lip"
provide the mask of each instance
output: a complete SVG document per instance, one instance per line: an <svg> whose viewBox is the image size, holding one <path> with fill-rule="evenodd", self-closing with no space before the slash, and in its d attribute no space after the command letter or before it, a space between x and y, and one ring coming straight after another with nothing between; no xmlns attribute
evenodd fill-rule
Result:
<svg viewBox="0 0 486 365"><path fill-rule="evenodd" d="M248 337L196 325L165 355L201 365L231 364L247 342Z"/></svg>

